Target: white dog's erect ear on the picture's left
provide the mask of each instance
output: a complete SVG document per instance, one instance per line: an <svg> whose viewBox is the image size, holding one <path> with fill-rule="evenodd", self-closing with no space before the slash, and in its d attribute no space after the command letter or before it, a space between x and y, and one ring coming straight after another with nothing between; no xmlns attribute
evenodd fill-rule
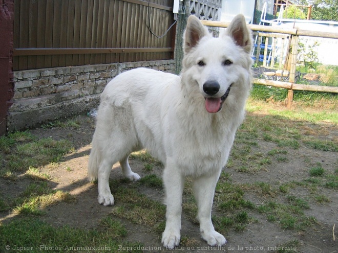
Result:
<svg viewBox="0 0 338 253"><path fill-rule="evenodd" d="M209 35L208 30L194 15L189 16L184 32L184 53L196 46L203 36Z"/></svg>

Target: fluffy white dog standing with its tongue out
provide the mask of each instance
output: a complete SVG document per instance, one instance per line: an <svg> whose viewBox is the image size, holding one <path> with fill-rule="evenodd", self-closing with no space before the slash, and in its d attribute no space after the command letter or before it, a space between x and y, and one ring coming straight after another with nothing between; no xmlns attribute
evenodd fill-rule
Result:
<svg viewBox="0 0 338 253"><path fill-rule="evenodd" d="M226 165L251 87L251 33L243 15L231 21L224 36L213 38L195 16L184 34L180 76L137 68L115 77L101 95L88 175L98 179L98 202L113 205L109 188L113 164L139 180L130 153L146 148L165 166L165 247L180 242L185 177L193 180L202 238L223 245L211 211L216 183Z"/></svg>

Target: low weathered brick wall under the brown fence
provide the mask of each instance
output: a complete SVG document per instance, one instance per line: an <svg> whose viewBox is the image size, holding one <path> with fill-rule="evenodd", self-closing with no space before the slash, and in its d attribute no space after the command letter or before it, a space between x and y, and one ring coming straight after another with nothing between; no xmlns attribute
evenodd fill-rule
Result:
<svg viewBox="0 0 338 253"><path fill-rule="evenodd" d="M121 72L149 67L174 73L174 60L98 64L16 71L9 131L68 117L97 107L105 85Z"/></svg>

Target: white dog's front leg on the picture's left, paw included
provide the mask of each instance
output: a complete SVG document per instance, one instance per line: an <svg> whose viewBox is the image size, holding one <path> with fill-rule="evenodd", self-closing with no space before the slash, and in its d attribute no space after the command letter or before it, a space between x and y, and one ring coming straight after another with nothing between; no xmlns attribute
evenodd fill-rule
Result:
<svg viewBox="0 0 338 253"><path fill-rule="evenodd" d="M163 172L163 181L166 193L166 222L162 234L164 247L173 249L180 243L181 212L184 177L175 163L168 163Z"/></svg>

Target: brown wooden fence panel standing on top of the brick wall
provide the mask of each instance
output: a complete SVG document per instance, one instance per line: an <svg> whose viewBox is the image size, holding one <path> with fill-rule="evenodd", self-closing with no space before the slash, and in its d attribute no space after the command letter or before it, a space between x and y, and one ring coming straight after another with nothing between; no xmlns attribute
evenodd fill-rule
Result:
<svg viewBox="0 0 338 253"><path fill-rule="evenodd" d="M13 70L173 59L173 0L15 0ZM148 9L149 8L149 9ZM150 18L147 16L150 14Z"/></svg>

